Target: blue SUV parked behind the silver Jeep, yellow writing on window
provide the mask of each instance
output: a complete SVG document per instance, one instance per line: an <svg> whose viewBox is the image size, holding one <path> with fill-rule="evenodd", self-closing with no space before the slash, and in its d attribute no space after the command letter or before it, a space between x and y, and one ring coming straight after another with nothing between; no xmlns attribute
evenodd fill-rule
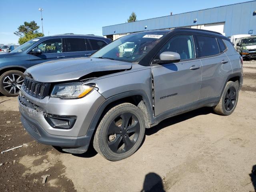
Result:
<svg viewBox="0 0 256 192"><path fill-rule="evenodd" d="M27 68L51 60L88 57L110 42L101 36L74 34L32 39L0 55L0 92L18 96Z"/></svg>

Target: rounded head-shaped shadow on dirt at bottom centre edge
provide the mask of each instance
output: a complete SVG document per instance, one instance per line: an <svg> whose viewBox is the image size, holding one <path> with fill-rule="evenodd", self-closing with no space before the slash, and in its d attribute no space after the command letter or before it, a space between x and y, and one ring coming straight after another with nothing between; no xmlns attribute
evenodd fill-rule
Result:
<svg viewBox="0 0 256 192"><path fill-rule="evenodd" d="M148 173L145 176L143 189L140 192L165 192L162 178L156 173Z"/></svg>

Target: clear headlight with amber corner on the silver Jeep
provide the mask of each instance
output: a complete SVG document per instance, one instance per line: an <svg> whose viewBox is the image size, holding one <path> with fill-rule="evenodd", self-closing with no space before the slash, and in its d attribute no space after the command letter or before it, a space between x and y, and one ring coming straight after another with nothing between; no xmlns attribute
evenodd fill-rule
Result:
<svg viewBox="0 0 256 192"><path fill-rule="evenodd" d="M94 86L95 84L83 85L79 82L55 85L51 97L58 97L61 99L82 98L90 93Z"/></svg>

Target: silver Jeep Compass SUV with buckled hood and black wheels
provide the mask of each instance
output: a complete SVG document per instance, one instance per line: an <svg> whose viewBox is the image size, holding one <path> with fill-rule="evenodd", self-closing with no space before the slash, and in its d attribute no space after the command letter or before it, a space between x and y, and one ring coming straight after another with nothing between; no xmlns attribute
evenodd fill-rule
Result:
<svg viewBox="0 0 256 192"><path fill-rule="evenodd" d="M21 120L40 143L132 155L145 128L203 106L230 115L243 82L242 58L217 32L177 28L124 36L90 58L30 67L18 97Z"/></svg>

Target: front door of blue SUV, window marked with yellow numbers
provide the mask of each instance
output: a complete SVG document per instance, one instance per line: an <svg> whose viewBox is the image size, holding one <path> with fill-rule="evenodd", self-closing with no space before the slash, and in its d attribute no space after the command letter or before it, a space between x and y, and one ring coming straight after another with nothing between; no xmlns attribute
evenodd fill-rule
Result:
<svg viewBox="0 0 256 192"><path fill-rule="evenodd" d="M62 38L51 38L44 40L38 45L36 45L33 49L35 48L41 49L42 54L30 54L31 66L51 60L58 60L65 57L65 53L63 52Z"/></svg>

